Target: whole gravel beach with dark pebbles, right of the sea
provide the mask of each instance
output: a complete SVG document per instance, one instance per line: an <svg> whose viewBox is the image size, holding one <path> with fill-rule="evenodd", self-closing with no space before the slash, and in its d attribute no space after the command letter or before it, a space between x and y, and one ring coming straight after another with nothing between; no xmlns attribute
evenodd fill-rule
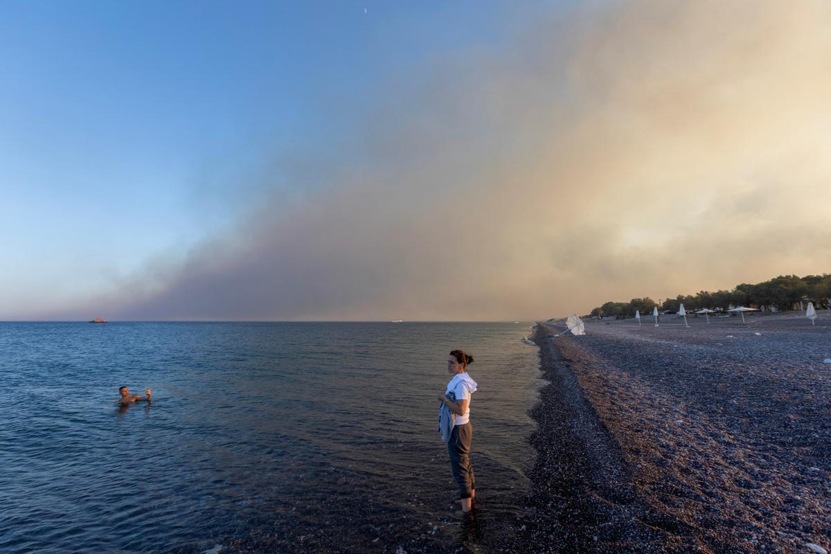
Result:
<svg viewBox="0 0 831 554"><path fill-rule="evenodd" d="M831 550L831 316L563 330L535 329L550 385L505 550Z"/></svg>

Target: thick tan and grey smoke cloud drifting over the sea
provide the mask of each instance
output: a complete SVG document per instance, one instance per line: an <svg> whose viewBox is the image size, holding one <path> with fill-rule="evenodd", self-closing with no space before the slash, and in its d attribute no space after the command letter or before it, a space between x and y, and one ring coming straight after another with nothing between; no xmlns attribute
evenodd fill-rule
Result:
<svg viewBox="0 0 831 554"><path fill-rule="evenodd" d="M77 313L533 320L829 271L829 28L822 1L534 22L378 91L324 189Z"/></svg>

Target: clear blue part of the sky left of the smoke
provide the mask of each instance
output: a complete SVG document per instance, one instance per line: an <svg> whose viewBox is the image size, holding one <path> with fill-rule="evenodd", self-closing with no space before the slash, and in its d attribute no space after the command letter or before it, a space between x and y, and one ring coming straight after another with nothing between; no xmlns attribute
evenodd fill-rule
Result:
<svg viewBox="0 0 831 554"><path fill-rule="evenodd" d="M2 301L184 255L234 224L268 156L332 156L379 90L442 52L494 48L518 7L4 2Z"/></svg>

